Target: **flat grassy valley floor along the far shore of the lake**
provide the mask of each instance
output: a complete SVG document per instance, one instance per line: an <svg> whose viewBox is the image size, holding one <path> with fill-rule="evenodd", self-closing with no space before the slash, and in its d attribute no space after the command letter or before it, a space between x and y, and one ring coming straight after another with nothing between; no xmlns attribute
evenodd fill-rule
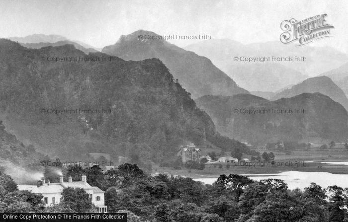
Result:
<svg viewBox="0 0 348 222"><path fill-rule="evenodd" d="M269 152L270 150L262 150ZM334 174L348 174L348 165L328 164L322 162L348 162L348 150L344 148L332 148L319 150L295 150L290 154L273 151L275 154L274 164L270 162L251 162L248 165L238 163L208 163L204 170L180 169L169 167L154 167L155 172L182 175L191 178L216 178L221 174L258 174L278 173L280 171L305 171L305 172L330 172ZM247 156L248 158L248 156Z"/></svg>

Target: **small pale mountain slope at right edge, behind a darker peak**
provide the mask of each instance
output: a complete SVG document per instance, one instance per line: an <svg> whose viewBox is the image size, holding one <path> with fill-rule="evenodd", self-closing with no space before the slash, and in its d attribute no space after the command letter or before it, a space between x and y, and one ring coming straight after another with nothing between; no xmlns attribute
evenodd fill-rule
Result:
<svg viewBox="0 0 348 222"><path fill-rule="evenodd" d="M321 75L329 76L348 96L348 63Z"/></svg>

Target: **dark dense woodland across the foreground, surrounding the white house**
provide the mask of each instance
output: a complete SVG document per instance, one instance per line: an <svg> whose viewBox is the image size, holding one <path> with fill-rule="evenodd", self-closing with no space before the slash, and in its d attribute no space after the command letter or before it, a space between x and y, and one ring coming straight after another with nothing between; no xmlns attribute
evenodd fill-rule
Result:
<svg viewBox="0 0 348 222"><path fill-rule="evenodd" d="M65 176L105 190L109 212L127 212L129 221L151 222L347 222L348 188L315 183L289 190L278 179L253 181L220 175L213 185L191 178L151 176L125 163L105 173L98 166L72 166ZM44 207L42 196L18 191L10 176L0 174L0 212L94 212L84 190L68 188L60 204Z"/></svg>

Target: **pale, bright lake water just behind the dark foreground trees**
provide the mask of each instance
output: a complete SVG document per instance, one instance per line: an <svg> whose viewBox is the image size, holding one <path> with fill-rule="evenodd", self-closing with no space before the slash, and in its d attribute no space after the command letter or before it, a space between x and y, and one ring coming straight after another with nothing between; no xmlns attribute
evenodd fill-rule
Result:
<svg viewBox="0 0 348 222"><path fill-rule="evenodd" d="M329 162L328 162L329 163ZM337 163L337 162L336 162ZM342 164L342 163L341 163ZM322 188L337 185L343 188L348 187L348 174L332 174L327 172L300 172L286 171L272 174L242 174L253 180L263 180L268 178L281 179L288 185L289 189L308 187L312 182L320 185ZM197 178L195 181L201 181L205 184L212 184L217 178Z"/></svg>

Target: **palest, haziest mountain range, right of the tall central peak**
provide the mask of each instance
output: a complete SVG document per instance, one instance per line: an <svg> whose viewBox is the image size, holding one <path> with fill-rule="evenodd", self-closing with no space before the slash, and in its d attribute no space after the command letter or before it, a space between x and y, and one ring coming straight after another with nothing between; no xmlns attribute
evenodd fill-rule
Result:
<svg viewBox="0 0 348 222"><path fill-rule="evenodd" d="M348 56L330 47L294 47L280 41L243 45L229 39L198 42L184 49L209 58L241 87L250 91L275 92L288 84L296 84L308 76L335 69ZM240 57L305 57L305 62L241 62ZM239 61L234 61L238 57ZM260 84L262 83L262 84Z"/></svg>

